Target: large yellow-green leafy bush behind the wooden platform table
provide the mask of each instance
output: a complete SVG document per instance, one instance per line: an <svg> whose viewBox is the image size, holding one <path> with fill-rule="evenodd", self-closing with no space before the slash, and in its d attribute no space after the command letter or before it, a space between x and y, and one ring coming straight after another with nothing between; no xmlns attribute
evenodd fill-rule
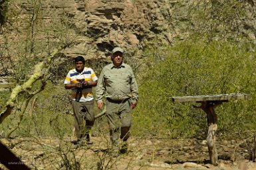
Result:
<svg viewBox="0 0 256 170"><path fill-rule="evenodd" d="M191 104L173 103L173 96L247 93L251 101L224 103L218 114L218 135L241 136L255 129L255 52L247 44L193 42L176 46L152 42L140 79L140 104L134 110L134 133L158 138L205 138L205 112Z"/></svg>

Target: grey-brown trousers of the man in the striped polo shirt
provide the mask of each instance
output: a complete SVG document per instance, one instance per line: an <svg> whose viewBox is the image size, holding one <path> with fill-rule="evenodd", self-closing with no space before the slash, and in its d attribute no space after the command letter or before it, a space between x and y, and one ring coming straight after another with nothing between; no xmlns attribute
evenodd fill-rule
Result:
<svg viewBox="0 0 256 170"><path fill-rule="evenodd" d="M94 102L78 102L72 101L74 110L74 128L76 130L76 138L81 140L86 138L90 140L90 130L94 124Z"/></svg>

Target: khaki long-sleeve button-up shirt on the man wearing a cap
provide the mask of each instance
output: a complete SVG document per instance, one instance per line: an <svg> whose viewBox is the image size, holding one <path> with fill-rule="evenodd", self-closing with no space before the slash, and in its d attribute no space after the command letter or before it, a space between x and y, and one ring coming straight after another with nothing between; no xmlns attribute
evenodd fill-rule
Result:
<svg viewBox="0 0 256 170"><path fill-rule="evenodd" d="M129 98L138 101L138 85L130 65L109 64L103 68L96 86L96 101L102 100L104 95L114 101Z"/></svg>

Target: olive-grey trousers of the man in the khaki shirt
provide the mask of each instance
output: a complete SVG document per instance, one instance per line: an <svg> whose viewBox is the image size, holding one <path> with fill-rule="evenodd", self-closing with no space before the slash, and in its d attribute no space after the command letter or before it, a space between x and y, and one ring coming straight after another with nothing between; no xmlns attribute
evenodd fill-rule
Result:
<svg viewBox="0 0 256 170"><path fill-rule="evenodd" d="M130 137L130 127L132 124L130 100L112 101L107 99L106 117L110 127L110 140L112 145L118 146L120 139L122 142L126 142Z"/></svg>

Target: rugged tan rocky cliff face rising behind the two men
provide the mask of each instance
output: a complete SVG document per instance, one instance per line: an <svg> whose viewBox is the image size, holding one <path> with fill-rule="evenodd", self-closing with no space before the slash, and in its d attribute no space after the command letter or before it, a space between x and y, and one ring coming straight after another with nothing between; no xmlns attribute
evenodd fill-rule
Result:
<svg viewBox="0 0 256 170"><path fill-rule="evenodd" d="M5 30L9 30L9 40L17 40L17 36L21 38L28 34L31 21L37 17L39 28L34 38L43 43L50 37L55 39L52 42L54 44L63 41L58 38L60 34L58 30L68 26L66 30L63 28L61 34L72 32L76 46L68 48L64 54L66 56L80 54L88 59L105 58L114 46L121 46L129 55L134 55L152 38L157 38L166 44L174 44L192 34L198 32L209 34L209 30L214 29L215 33L211 35L213 38L223 38L228 34L234 36L233 32L235 32L255 42L256 17L253 1L250 3L245 1L241 4L242 6L239 6L238 11L241 11L242 7L245 13L235 12L236 6L230 5L229 9L232 13L225 12L225 9L221 9L225 5L220 2L216 3L216 0L203 2L196 0L22 0L9 5L9 11L16 15L10 17L9 22L15 21L19 31L14 33L15 26L8 22ZM217 6L214 6L216 4ZM221 18L218 14L226 16ZM40 24L39 19L41 19ZM211 23L213 21L215 24ZM62 26L58 26L59 23ZM51 32L45 30L51 30ZM5 34L8 34L8 31ZM29 34L32 34L31 31ZM0 36L2 41L3 37L2 34ZM45 42L47 43L49 42Z"/></svg>

